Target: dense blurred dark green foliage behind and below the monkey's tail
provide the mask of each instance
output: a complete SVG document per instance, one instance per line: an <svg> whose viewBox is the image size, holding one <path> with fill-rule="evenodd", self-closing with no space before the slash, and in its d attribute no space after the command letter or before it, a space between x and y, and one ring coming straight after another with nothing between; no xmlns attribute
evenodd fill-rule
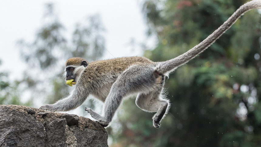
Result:
<svg viewBox="0 0 261 147"><path fill-rule="evenodd" d="M176 57L205 39L246 0L146 0L148 36L158 44L144 55ZM171 100L161 128L153 114L127 101L108 129L112 146L259 146L261 140L260 17L247 12L212 46L170 74ZM121 125L118 125L121 124ZM116 129L115 129L116 128Z"/></svg>

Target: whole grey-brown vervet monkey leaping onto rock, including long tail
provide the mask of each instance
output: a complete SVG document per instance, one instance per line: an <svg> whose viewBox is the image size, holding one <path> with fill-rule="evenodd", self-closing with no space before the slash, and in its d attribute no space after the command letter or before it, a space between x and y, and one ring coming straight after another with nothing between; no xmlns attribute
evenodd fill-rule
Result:
<svg viewBox="0 0 261 147"><path fill-rule="evenodd" d="M80 57L68 59L65 67L66 80L73 80L75 89L68 97L55 104L44 105L40 109L68 111L80 106L91 94L104 102L103 115L95 113L90 108L85 110L98 123L106 127L112 121L123 98L137 94L136 104L139 108L157 112L153 116L153 126L159 128L161 119L170 107L169 100L162 94L165 77L208 48L245 12L260 8L261 0L247 2L201 43L168 61L153 62L137 56L91 63Z"/></svg>

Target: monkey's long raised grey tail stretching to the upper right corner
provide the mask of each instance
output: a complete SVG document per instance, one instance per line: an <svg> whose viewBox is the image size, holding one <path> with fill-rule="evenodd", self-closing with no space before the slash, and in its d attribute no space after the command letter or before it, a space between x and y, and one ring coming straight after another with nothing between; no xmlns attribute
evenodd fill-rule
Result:
<svg viewBox="0 0 261 147"><path fill-rule="evenodd" d="M201 43L194 46L192 49L188 50L186 53L179 55L171 60L165 62L159 62L156 67L158 72L165 74L171 71L174 71L179 66L187 63L189 60L193 59L199 53L203 52L207 49L212 43L215 42L227 29L229 29L240 16L242 16L245 12L251 9L261 9L261 0L253 0L247 2L242 5L239 9L236 10L229 17L227 21L225 21L218 29L216 29L211 35L209 35L206 39L204 39Z"/></svg>

